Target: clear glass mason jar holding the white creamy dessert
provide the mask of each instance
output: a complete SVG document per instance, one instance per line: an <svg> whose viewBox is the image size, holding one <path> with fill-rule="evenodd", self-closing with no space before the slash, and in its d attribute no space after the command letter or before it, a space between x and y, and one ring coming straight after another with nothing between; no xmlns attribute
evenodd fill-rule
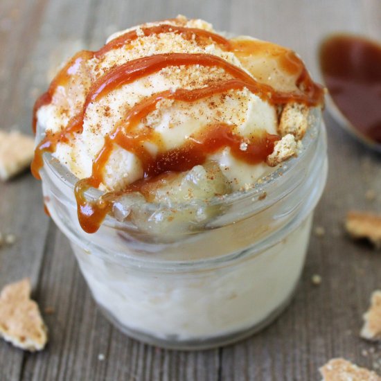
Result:
<svg viewBox="0 0 381 381"><path fill-rule="evenodd" d="M51 218L107 318L149 344L211 348L257 332L290 301L326 183L326 130L321 110L312 109L299 156L254 188L212 200L213 218L193 229L183 229L183 218L167 220L158 233L168 205L145 203L137 209L148 225L107 216L96 233L85 233L73 191L78 179L49 154L40 173ZM183 217L194 208L175 206Z"/></svg>

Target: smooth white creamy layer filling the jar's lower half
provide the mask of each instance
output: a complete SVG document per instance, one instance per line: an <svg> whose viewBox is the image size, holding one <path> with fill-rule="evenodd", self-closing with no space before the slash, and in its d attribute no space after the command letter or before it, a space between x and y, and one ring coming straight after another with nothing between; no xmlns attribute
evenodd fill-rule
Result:
<svg viewBox="0 0 381 381"><path fill-rule="evenodd" d="M160 339L211 339L254 327L283 305L301 274L311 220L258 256L200 274L129 269L72 245L94 298L123 328Z"/></svg>

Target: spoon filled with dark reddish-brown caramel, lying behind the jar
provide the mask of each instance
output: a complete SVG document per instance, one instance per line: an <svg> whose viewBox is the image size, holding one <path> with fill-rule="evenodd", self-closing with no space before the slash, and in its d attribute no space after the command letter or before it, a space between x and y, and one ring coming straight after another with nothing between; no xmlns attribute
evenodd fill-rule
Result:
<svg viewBox="0 0 381 381"><path fill-rule="evenodd" d="M330 35L321 42L319 63L335 119L381 152L380 44L357 35Z"/></svg>

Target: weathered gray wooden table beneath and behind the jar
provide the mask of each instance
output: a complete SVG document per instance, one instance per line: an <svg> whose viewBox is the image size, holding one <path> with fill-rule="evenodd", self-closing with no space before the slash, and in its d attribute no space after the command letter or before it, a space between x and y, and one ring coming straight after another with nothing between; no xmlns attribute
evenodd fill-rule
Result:
<svg viewBox="0 0 381 381"><path fill-rule="evenodd" d="M110 33L177 14L218 30L269 39L299 52L314 74L319 39L348 30L381 39L380 0L1 0L0 128L30 133L31 107L49 68ZM48 73L48 75L46 74ZM0 249L0 287L30 276L50 341L42 353L0 342L0 380L319 380L318 367L343 356L381 366L381 347L358 337L369 295L381 287L381 253L348 240L348 209L381 211L381 156L326 115L330 172L307 263L294 301L272 326L244 342L202 352L165 351L128 339L97 310L66 238L44 214L30 174L0 184L0 231L17 242ZM378 199L365 193L374 189ZM312 274L322 283L312 285ZM373 348L373 349L371 349ZM99 360L104 355L104 360Z"/></svg>

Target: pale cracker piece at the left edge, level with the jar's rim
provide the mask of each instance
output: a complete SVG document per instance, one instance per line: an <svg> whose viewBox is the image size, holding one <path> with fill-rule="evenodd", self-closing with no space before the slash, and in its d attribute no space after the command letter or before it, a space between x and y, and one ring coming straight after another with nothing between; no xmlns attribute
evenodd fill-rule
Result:
<svg viewBox="0 0 381 381"><path fill-rule="evenodd" d="M33 159L35 141L17 131L0 131L0 179L8 180L26 169Z"/></svg>

